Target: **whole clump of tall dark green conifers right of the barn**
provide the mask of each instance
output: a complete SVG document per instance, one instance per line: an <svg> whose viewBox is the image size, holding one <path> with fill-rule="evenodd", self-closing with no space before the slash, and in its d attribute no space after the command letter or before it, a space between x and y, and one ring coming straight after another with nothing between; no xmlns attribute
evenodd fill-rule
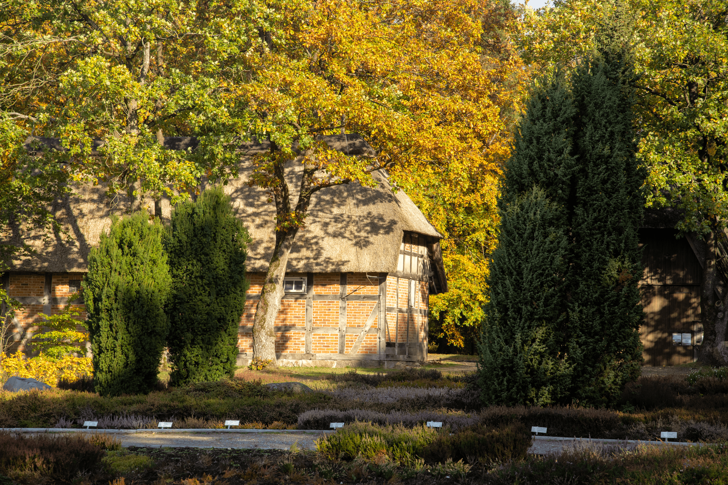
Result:
<svg viewBox="0 0 728 485"><path fill-rule="evenodd" d="M555 71L526 106L499 200L505 233L480 345L486 403L604 406L638 376L645 173L630 76L625 52L604 50L570 89ZM550 202L533 210L540 191Z"/></svg>

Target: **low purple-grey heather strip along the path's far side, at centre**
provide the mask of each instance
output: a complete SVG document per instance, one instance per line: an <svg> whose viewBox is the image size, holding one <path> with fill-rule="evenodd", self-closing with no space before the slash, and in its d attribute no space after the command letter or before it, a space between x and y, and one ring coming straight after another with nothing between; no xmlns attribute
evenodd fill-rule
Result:
<svg viewBox="0 0 728 485"><path fill-rule="evenodd" d="M478 422L478 415L464 413L438 413L437 411L420 411L419 413L407 413L392 411L380 413L366 409L347 409L337 411L335 409L312 409L298 415L299 430L328 430L332 422L343 422L346 425L355 422L371 422L375 425L402 425L404 427L422 426L428 421L442 422L443 426L451 430L459 430L463 427L474 425Z"/></svg>

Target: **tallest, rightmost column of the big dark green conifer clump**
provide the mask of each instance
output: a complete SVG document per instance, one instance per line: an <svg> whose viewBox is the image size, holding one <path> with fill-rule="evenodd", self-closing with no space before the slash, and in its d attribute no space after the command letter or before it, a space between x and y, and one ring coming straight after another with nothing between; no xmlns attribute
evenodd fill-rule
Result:
<svg viewBox="0 0 728 485"><path fill-rule="evenodd" d="M566 350L574 361L571 395L598 405L636 379L642 362L637 232L646 176L636 158L629 60L620 51L603 55L582 63L572 82L579 168Z"/></svg>

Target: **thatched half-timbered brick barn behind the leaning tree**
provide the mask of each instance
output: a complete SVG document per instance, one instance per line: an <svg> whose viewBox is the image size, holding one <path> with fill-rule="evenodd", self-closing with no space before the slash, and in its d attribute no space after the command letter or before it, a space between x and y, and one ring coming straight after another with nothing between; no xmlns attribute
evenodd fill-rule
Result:
<svg viewBox="0 0 728 485"><path fill-rule="evenodd" d="M360 137L326 138L332 148L349 154L371 150ZM174 143L178 141L165 140L165 146ZM247 155L266 149L250 145ZM296 159L290 164L290 184L295 186L301 163ZM253 315L274 243L274 205L266 202L264 190L248 186L248 167L242 163L240 178L225 186L252 238L239 365L252 357ZM352 183L314 194L288 262L275 327L279 365L393 367L427 360L429 296L447 290L442 236L404 192L392 190L386 173L374 173L374 178L374 188ZM170 218L165 199L155 208L151 200L111 201L103 192L100 186L79 186L73 197L54 208L71 234L70 242L57 238L41 245L39 235L19 232L6 238L31 242L39 250L12 261L12 271L2 276L9 295L25 306L14 320L15 348L25 351L28 339L41 331L39 313L59 312L79 290L90 248L108 230L112 214L146 208L163 221Z"/></svg>

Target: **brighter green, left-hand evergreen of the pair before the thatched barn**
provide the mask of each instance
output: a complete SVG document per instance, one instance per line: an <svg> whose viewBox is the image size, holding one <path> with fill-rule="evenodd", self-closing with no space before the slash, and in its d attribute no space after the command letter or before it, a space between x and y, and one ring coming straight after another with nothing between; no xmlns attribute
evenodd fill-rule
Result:
<svg viewBox="0 0 728 485"><path fill-rule="evenodd" d="M114 218L89 255L84 300L94 385L102 395L149 393L157 384L171 283L163 233L146 213Z"/></svg>

